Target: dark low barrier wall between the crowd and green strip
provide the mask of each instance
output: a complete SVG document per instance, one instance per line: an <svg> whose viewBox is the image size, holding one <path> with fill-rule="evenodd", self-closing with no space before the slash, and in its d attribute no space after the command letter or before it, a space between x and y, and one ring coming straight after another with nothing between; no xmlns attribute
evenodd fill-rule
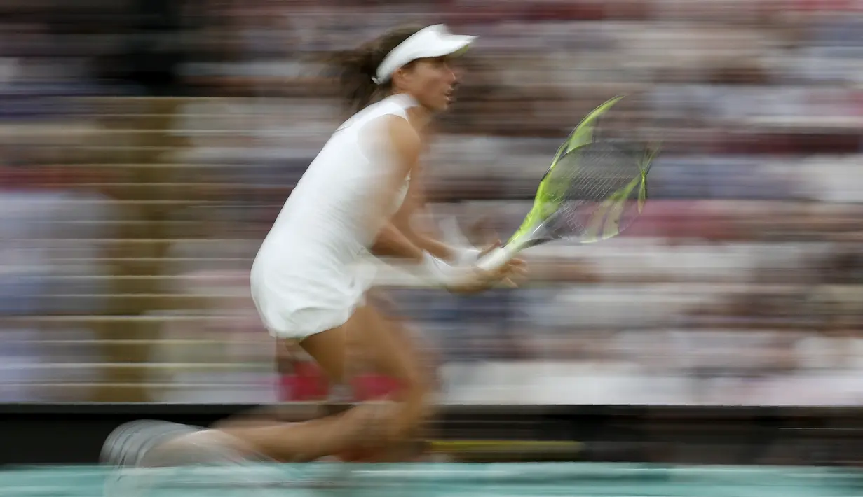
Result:
<svg viewBox="0 0 863 497"><path fill-rule="evenodd" d="M111 430L134 419L209 425L243 405L5 404L0 462L95 463ZM288 417L308 405L283 407ZM805 407L446 406L439 439L578 441L581 461L856 464L863 409Z"/></svg>

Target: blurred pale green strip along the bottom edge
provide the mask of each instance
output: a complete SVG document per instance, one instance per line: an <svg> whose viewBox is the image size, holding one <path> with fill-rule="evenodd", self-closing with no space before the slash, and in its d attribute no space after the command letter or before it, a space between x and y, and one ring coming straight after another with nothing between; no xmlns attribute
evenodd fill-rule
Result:
<svg viewBox="0 0 863 497"><path fill-rule="evenodd" d="M120 483L116 476L97 467L6 469L0 497L863 496L863 472L790 467L311 463L148 469Z"/></svg>

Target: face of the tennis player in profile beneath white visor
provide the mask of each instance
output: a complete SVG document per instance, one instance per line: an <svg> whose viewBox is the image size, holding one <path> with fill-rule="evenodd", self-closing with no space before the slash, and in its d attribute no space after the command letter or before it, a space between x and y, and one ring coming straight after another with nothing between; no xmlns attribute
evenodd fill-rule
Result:
<svg viewBox="0 0 863 497"><path fill-rule="evenodd" d="M456 71L445 57L419 59L400 69L394 81L398 90L411 94L419 103L434 112L450 108L458 83Z"/></svg>

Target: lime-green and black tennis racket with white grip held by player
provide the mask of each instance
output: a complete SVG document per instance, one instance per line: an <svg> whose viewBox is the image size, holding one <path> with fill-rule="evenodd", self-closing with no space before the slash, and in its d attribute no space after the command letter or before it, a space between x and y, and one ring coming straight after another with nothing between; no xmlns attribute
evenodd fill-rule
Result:
<svg viewBox="0 0 863 497"><path fill-rule="evenodd" d="M540 180L525 221L506 245L480 259L480 269L498 270L519 252L556 239L609 239L635 221L647 200L647 172L658 149L594 140L596 121L622 98L603 103L576 126Z"/></svg>

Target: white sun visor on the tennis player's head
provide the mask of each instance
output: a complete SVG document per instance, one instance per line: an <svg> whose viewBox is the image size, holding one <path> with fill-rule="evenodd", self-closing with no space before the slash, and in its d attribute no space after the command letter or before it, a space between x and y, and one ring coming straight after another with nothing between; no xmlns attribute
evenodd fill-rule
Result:
<svg viewBox="0 0 863 497"><path fill-rule="evenodd" d="M416 59L461 55L467 51L473 40L476 40L476 36L451 34L444 24L422 28L387 53L387 57L378 65L372 81L384 84L393 77L395 71Z"/></svg>

